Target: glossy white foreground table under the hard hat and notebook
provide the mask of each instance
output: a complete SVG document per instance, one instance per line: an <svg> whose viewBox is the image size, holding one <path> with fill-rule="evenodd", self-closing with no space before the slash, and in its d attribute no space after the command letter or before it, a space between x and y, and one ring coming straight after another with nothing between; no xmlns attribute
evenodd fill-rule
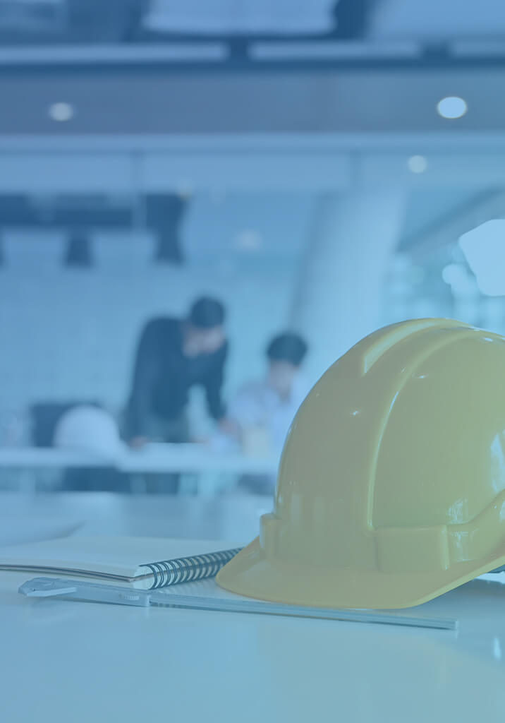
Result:
<svg viewBox="0 0 505 723"><path fill-rule="evenodd" d="M30 516L90 531L246 542L267 500L0 495L0 529ZM255 505L255 506L254 506ZM15 528L15 523L14 523ZM505 716L505 585L432 603L459 632L139 609L18 595L0 575L6 723L498 723Z"/></svg>

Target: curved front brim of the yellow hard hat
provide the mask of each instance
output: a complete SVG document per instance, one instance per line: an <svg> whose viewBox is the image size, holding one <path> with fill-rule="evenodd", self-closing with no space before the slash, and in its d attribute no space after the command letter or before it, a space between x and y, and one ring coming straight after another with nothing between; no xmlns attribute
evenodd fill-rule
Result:
<svg viewBox="0 0 505 723"><path fill-rule="evenodd" d="M285 604L332 608L394 609L428 602L473 578L505 565L505 544L479 565L459 562L436 572L384 573L338 570L304 562L269 560L259 538L217 574L226 590Z"/></svg>

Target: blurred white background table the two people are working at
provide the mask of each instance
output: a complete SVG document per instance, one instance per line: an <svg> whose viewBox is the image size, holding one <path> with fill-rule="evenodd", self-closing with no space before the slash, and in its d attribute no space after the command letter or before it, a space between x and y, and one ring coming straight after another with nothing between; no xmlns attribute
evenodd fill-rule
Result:
<svg viewBox="0 0 505 723"><path fill-rule="evenodd" d="M0 469L22 473L21 488L35 488L40 470L113 467L130 475L146 474L267 474L275 476L277 458L255 458L220 452L205 445L149 444L138 450L124 448L113 457L40 447L0 448Z"/></svg>

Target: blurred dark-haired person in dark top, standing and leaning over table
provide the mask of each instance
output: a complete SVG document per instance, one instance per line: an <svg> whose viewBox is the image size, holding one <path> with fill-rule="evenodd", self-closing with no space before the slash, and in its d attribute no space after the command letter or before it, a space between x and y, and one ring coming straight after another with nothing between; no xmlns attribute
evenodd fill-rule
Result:
<svg viewBox="0 0 505 723"><path fill-rule="evenodd" d="M197 299L186 319L160 317L144 326L137 346L125 436L146 441L189 442L189 389L205 390L210 416L225 426L221 387L228 354L225 309L216 299Z"/></svg>

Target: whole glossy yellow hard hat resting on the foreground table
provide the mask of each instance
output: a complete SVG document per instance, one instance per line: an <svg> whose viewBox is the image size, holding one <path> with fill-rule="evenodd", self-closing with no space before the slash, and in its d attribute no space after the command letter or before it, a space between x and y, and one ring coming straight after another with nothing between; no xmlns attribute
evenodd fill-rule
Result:
<svg viewBox="0 0 505 723"><path fill-rule="evenodd" d="M318 607L426 602L505 565L505 338L446 319L363 339L291 426L275 510L217 576Z"/></svg>

